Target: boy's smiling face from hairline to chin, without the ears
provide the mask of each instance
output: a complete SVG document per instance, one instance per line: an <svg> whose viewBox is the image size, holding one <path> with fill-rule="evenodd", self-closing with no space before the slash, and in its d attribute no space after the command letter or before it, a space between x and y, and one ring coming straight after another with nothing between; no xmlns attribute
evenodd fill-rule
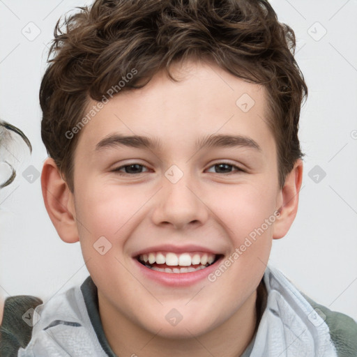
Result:
<svg viewBox="0 0 357 357"><path fill-rule="evenodd" d="M281 204L264 88L173 69L180 82L158 73L82 129L72 197L101 314L166 337L213 331L255 298Z"/></svg>

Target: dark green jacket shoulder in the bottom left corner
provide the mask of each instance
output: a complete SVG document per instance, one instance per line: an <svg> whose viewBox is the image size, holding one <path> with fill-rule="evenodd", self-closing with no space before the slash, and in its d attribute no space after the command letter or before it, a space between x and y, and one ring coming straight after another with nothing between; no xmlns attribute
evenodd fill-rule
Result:
<svg viewBox="0 0 357 357"><path fill-rule="evenodd" d="M34 296L11 296L6 299L0 326L0 356L14 356L20 347L26 347L31 340L34 309L42 303Z"/></svg>

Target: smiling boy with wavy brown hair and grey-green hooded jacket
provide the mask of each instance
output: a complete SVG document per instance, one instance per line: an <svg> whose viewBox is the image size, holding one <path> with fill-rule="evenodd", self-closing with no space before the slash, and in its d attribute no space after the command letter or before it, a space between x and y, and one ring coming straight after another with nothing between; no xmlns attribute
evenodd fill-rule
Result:
<svg viewBox="0 0 357 357"><path fill-rule="evenodd" d="M294 46L264 0L100 0L57 24L43 197L91 276L13 298L9 355L356 356L356 323L266 266L301 188Z"/></svg>

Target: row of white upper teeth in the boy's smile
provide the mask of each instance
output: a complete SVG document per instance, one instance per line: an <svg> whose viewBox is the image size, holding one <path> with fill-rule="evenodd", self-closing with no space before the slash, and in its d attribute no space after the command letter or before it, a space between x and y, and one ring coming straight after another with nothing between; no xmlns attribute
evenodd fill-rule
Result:
<svg viewBox="0 0 357 357"><path fill-rule="evenodd" d="M147 263L149 261L149 264L166 264L168 266L190 266L190 265L197 265L197 264L202 264L206 265L212 264L213 261L215 261L215 255L214 254L190 254L190 253L183 253L181 255L176 255L175 253L169 252L169 253L149 253L149 254L144 254L140 255L139 259L141 261L144 261Z"/></svg>

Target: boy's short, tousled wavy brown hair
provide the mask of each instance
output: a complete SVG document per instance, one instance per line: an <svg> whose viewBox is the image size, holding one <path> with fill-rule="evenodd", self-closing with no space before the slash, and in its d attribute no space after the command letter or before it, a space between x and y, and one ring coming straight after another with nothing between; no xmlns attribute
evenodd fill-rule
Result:
<svg viewBox="0 0 357 357"><path fill-rule="evenodd" d="M171 63L204 57L265 87L282 187L303 156L298 121L307 86L295 47L294 31L267 0L96 0L56 24L40 86L43 142L74 190L79 135L68 139L66 132L83 118L89 98L102 100L133 68L122 91L141 88L161 69L176 81Z"/></svg>

